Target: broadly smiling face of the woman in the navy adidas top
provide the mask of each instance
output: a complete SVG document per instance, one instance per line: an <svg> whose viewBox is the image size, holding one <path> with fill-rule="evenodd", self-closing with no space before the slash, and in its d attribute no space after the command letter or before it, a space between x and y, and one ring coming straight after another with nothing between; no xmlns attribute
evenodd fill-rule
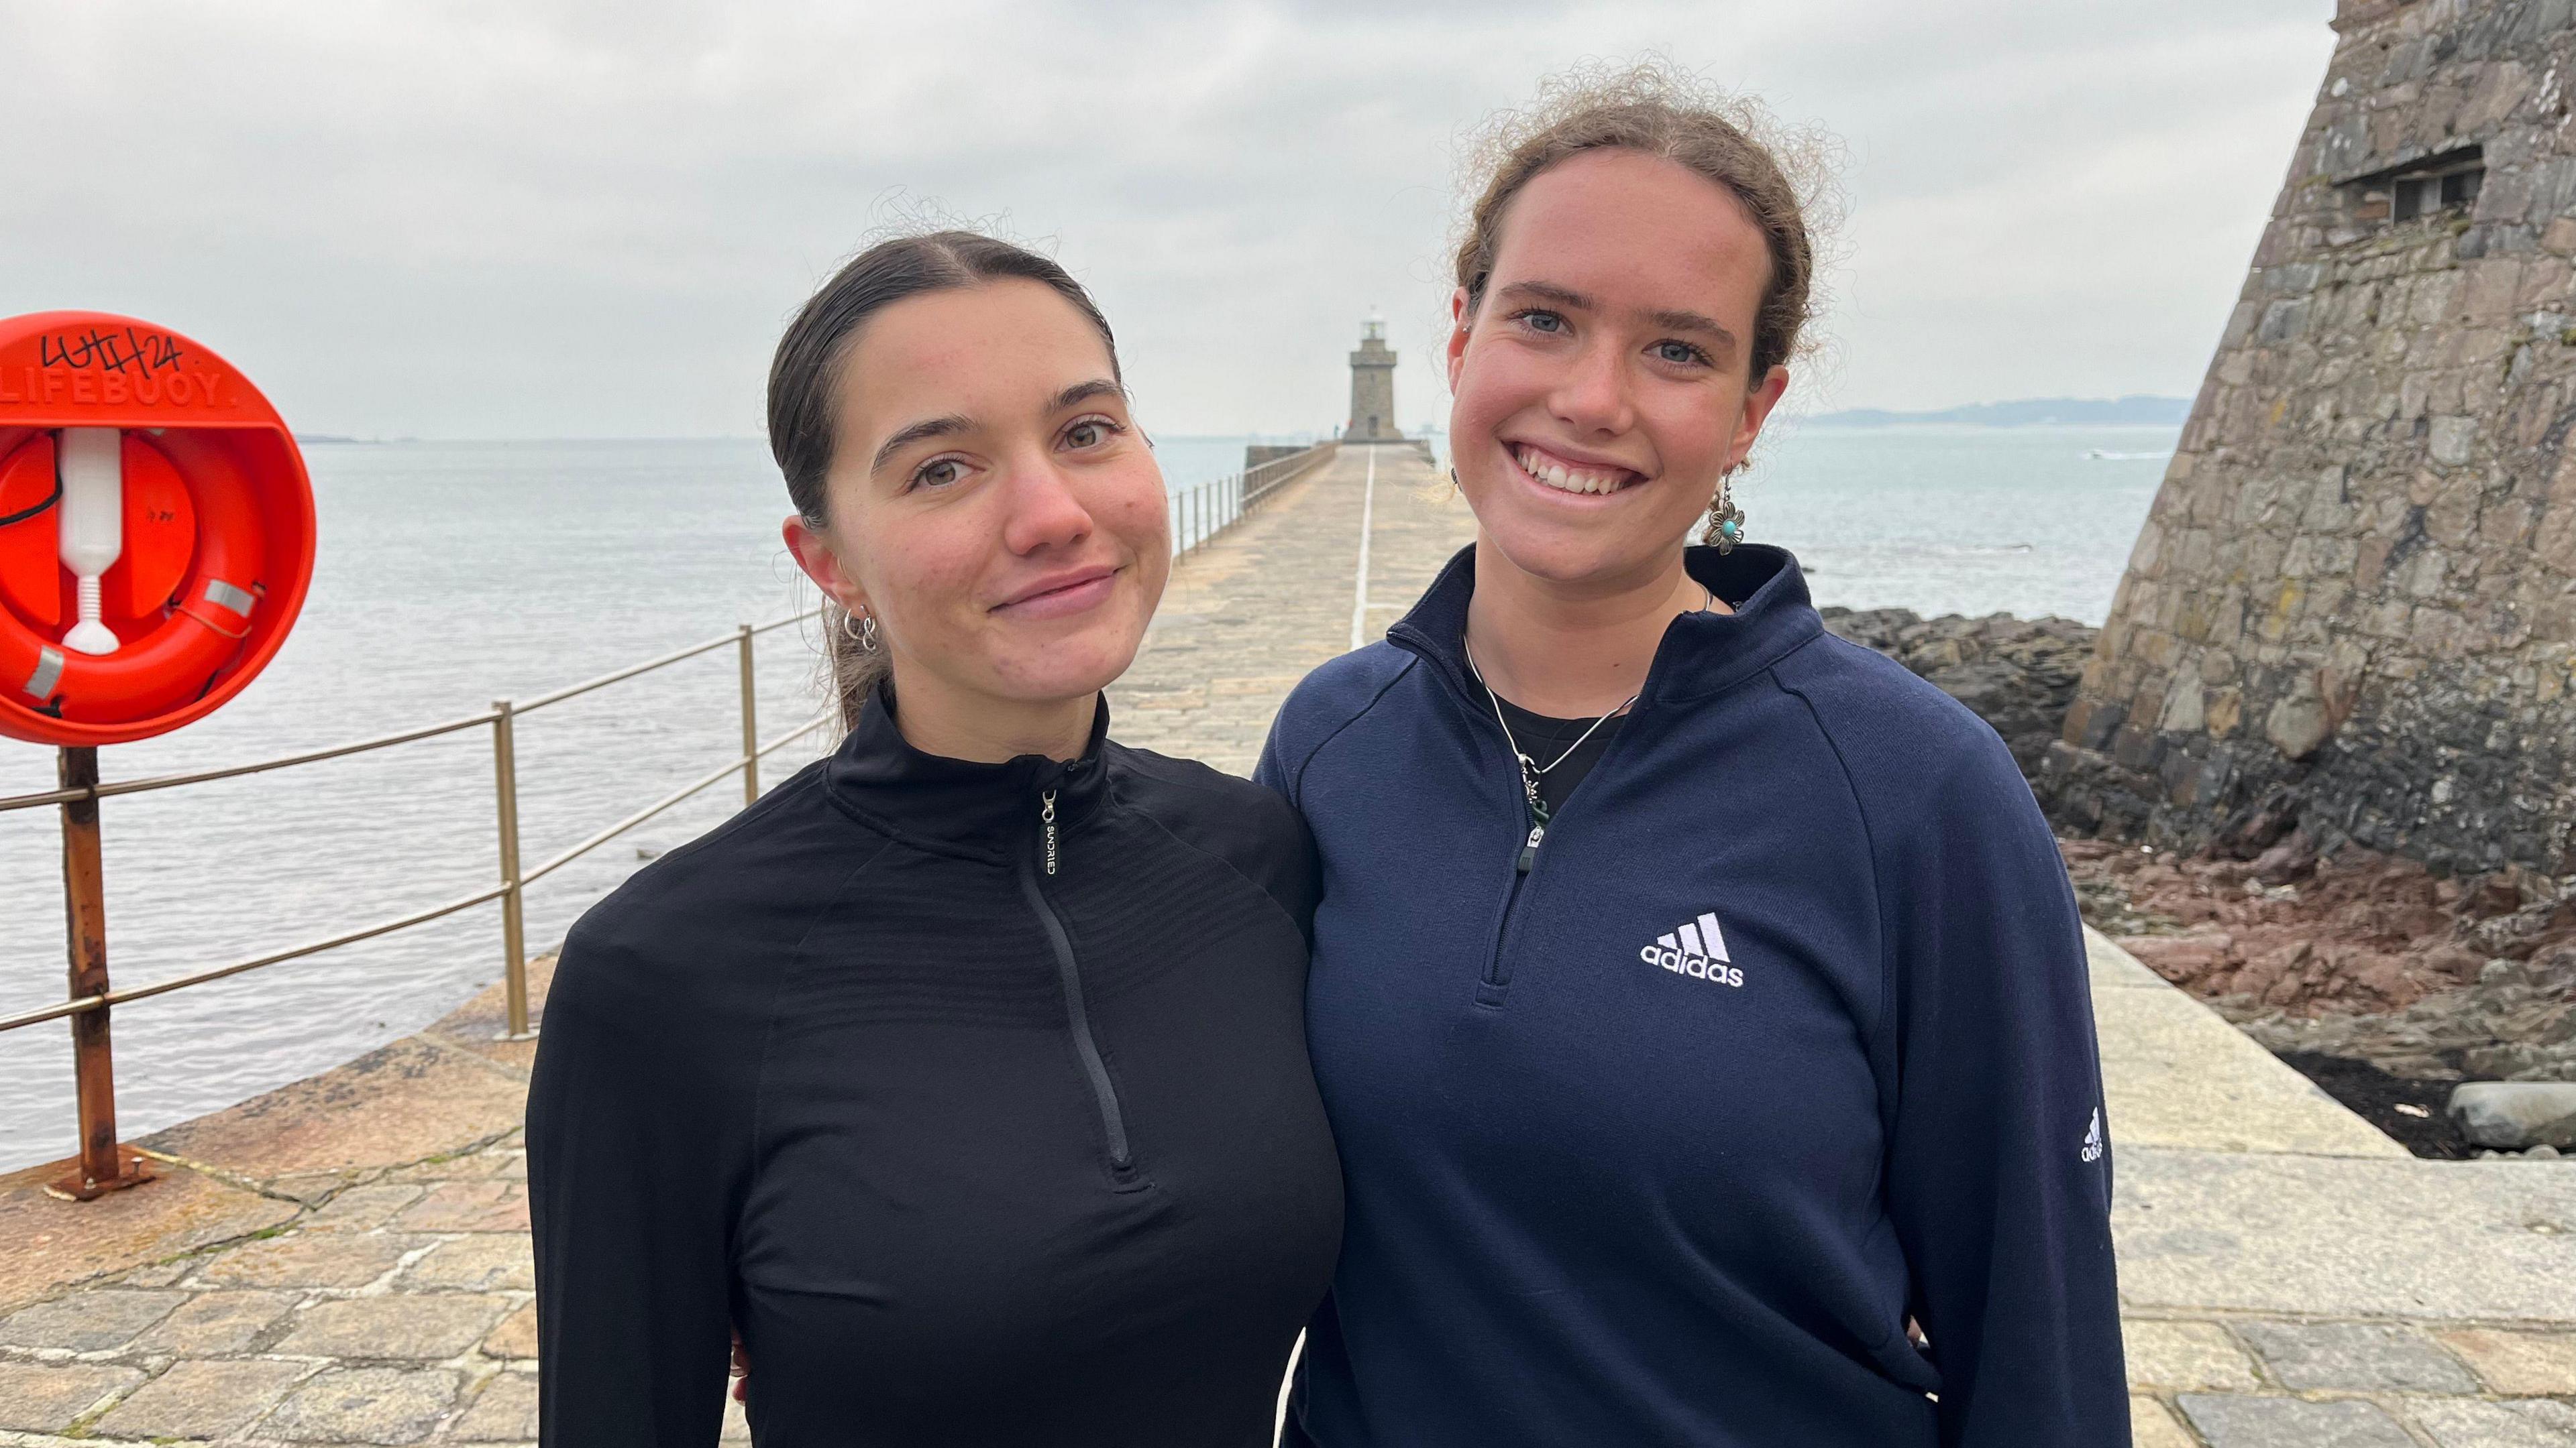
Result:
<svg viewBox="0 0 2576 1448"><path fill-rule="evenodd" d="M1788 386L1749 379L1770 250L1744 204L1592 149L1510 201L1484 299L1453 299L1450 451L1481 541L1564 585L1659 575Z"/></svg>

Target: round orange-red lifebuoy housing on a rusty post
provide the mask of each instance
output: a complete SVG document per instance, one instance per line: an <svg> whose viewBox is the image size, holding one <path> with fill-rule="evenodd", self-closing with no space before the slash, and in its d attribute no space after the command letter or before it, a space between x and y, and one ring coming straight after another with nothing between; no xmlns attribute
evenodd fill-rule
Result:
<svg viewBox="0 0 2576 1448"><path fill-rule="evenodd" d="M0 322L0 734L211 714L286 642L312 557L304 456L219 356L98 312Z"/></svg>

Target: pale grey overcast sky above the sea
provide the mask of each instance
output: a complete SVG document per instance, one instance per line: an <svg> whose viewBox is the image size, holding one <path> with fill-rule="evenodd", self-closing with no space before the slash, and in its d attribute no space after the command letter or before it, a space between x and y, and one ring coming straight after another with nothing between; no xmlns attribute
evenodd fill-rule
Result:
<svg viewBox="0 0 2576 1448"><path fill-rule="evenodd" d="M1406 428L1458 139L1662 49L1847 147L1801 410L2190 394L2331 0L0 0L0 314L131 312L309 433L757 435L770 345L904 206L1087 281L1164 433Z"/></svg>

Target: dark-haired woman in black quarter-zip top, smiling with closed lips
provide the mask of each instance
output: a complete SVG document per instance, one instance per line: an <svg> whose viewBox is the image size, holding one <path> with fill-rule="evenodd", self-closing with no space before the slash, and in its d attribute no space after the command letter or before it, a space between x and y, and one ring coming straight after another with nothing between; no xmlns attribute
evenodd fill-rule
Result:
<svg viewBox="0 0 2576 1448"><path fill-rule="evenodd" d="M878 245L770 446L850 734L564 943L544 1443L714 1443L729 1329L770 1448L1270 1443L1342 1229L1311 845L1103 737L1170 569L1108 322L1020 247Z"/></svg>

